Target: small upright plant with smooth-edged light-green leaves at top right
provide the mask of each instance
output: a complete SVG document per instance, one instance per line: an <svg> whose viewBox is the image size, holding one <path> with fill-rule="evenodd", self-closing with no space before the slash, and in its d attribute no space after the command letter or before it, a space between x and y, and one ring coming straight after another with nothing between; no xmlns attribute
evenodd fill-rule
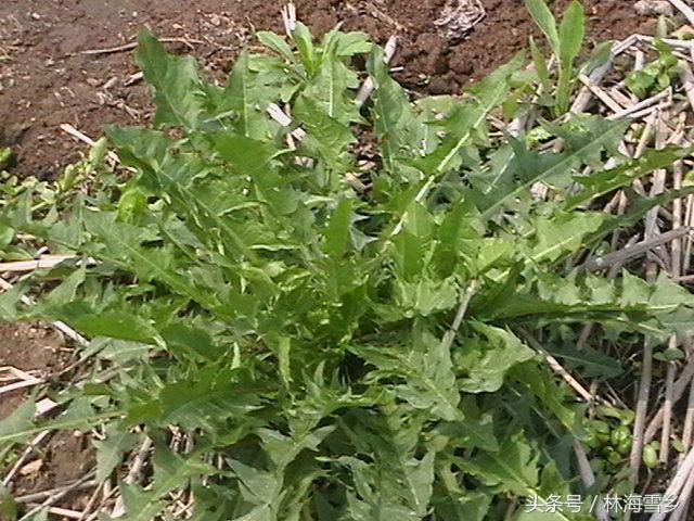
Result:
<svg viewBox="0 0 694 521"><path fill-rule="evenodd" d="M526 0L525 4L557 61L556 104L553 109L554 115L557 116L568 110L574 85L574 62L583 47L586 36L583 7L578 0L571 0L557 27L556 20L545 0ZM544 93L549 94L552 91L552 81L548 62L532 39L530 39L530 50Z"/></svg>

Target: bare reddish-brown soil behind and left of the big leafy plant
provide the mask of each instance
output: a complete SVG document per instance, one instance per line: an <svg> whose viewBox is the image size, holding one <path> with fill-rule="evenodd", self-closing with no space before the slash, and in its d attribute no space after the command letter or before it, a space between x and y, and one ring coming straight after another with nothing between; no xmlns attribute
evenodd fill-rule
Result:
<svg viewBox="0 0 694 521"><path fill-rule="evenodd" d="M338 22L383 43L399 37L396 77L420 93L454 93L525 47L534 30L522 0L483 0L487 14L462 39L439 33L435 21L457 0L297 0L297 13L316 33ZM267 0L0 0L0 147L17 155L18 176L51 178L79 157L81 144L60 130L70 124L98 138L104 124L146 123L150 92L132 80L131 43L150 25L176 52L192 53L223 78L254 30L281 30L284 2ZM554 2L563 9L566 0ZM586 0L589 40L653 31L628 0ZM124 49L113 49L126 46ZM400 68L401 67L401 68ZM39 326L0 325L0 367L50 376L61 363L61 340ZM0 374L1 376L1 374ZM0 386L3 383L0 381ZM0 418L23 398L0 397ZM81 475L92 460L83 440L50 441L40 469L20 492L50 488ZM34 458L36 459L36 458ZM3 473L0 472L0 478ZM15 492L17 492L15 490ZM72 504L75 505L74 503Z"/></svg>

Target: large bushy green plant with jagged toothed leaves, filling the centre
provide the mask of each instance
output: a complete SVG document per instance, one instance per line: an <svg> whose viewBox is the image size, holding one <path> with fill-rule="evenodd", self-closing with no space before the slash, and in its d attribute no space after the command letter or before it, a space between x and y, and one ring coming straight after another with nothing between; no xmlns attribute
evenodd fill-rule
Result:
<svg viewBox="0 0 694 521"><path fill-rule="evenodd" d="M243 52L220 87L143 31L154 126L106 129L130 173L104 165L102 143L48 203L46 187L7 191L3 249L75 259L0 294L0 316L67 322L91 339L92 372L53 396L51 420L21 406L0 443L103 425L103 481L147 436L146 483L119 482L125 521L171 519L177 491L194 503L176 516L205 521L530 520L514 505L569 493L590 505L600 491L569 456L586 405L545 356L603 379L620 368L577 351L577 326L612 340L691 328L694 301L667 278L580 267L665 196L628 192L619 218L593 202L684 152L606 169L629 124L589 115L547 125L556 153L492 132L522 54L463 97L411 102L361 33L258 36L270 52ZM561 106L576 45L558 53ZM375 86L363 110L358 55ZM288 126L271 104L291 107Z"/></svg>

